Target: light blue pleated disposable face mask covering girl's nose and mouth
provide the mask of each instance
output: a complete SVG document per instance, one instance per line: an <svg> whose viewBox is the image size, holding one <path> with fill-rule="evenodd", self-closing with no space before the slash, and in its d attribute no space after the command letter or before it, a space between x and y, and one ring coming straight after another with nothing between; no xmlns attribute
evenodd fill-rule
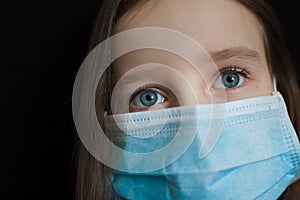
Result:
<svg viewBox="0 0 300 200"><path fill-rule="evenodd" d="M112 184L125 199L277 199L300 176L300 145L279 93L217 109L210 104L109 116L106 127L124 149L119 165L128 170L113 170ZM182 140L192 140L173 162L174 145L169 154L134 166L126 157L158 152L180 130ZM161 167L141 172L156 159Z"/></svg>

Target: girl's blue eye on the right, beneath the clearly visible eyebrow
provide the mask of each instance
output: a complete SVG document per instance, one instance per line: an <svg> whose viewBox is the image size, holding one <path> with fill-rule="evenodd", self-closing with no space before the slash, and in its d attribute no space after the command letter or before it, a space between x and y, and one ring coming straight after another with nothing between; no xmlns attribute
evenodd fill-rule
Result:
<svg viewBox="0 0 300 200"><path fill-rule="evenodd" d="M220 72L221 75L214 83L214 88L236 88L243 84L248 73L245 70L237 68L227 68Z"/></svg>

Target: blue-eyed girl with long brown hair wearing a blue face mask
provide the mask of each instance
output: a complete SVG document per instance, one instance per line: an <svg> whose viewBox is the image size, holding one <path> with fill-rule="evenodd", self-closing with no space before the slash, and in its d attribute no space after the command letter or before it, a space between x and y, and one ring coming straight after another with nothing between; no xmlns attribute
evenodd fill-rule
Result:
<svg viewBox="0 0 300 200"><path fill-rule="evenodd" d="M293 147L285 149L287 142L282 141L285 133L276 128L278 119L272 113L273 100L270 100L273 93L279 99L278 102L281 101L280 94L276 93L278 88L285 99L293 127L299 133L299 89L277 20L265 1L103 1L91 47L114 34L122 34L128 30L145 30L145 41L148 38L163 38L159 40L159 44L168 43L168 36L174 36L177 38L174 40L175 48L189 43L190 40L180 39L181 36L188 36L201 44L205 51L200 48L199 52L204 56L200 61L195 61L195 65L200 66L195 68L194 63L187 62L193 60L193 56L184 60L174 55L174 51L170 53L161 49L137 49L126 55L123 53L105 70L97 87L95 109L100 124L107 129L106 134L120 148L134 153L155 152L173 144L172 141L178 141L174 134L165 132L165 127L174 124L176 133L182 132L188 138L190 132L196 135L191 135L187 143L186 138L179 137L182 141L176 143L177 146L171 145L169 149L172 151L167 151L169 154L148 156L148 161L152 159L149 163L145 159L145 163L132 164L136 159L130 160L132 157L126 157L123 152L124 155L112 158L119 160L119 168L111 166L113 170L95 159L97 156L93 153L91 155L91 150L78 140L77 199L276 199L280 195L282 199L296 199L299 196L296 186L296 179L299 177L299 142L290 123L285 122L284 126L289 130L286 134L293 138L290 141ZM167 31L164 32L165 30ZM158 34L159 37L156 38L156 33L164 36ZM139 40L138 37L139 34L133 38ZM120 49L134 43L133 40L128 42L118 38L115 41L117 42L113 42L115 46L111 49L112 55L118 55ZM196 50L182 53L185 56L198 55ZM217 75L215 69L218 70ZM276 77L276 81L273 77ZM255 106L257 113L261 114L253 115L249 111L236 114L238 106L247 110L246 107L255 105L255 102L263 105L261 108L257 104ZM275 107L277 103L274 104ZM270 113L264 110L266 104L270 105ZM232 113L223 113L218 118L215 116L215 107L209 105L222 105L227 112ZM209 123L207 126L198 124L206 124L206 119L201 118L203 109L212 113L208 115L212 126ZM188 124L183 130L178 128L177 122L170 122L162 117L168 115L176 118L174 113L179 113L176 116L180 116L180 124ZM185 113L192 113L192 119L184 118ZM146 117L151 119L150 125L134 129L139 134L129 134L134 124L120 125L122 120L122 123L132 119L145 120L145 115L150 116ZM265 117L266 115L268 116ZM166 121L155 121L153 116ZM236 121L245 116L255 122L245 126L237 125ZM276 117L284 118L285 115L276 114ZM222 120L214 120L215 118ZM162 123L159 134L163 137L158 136L157 132L153 133L154 129L149 132L149 127L156 122L155 126ZM232 124L228 125L229 122ZM119 126L118 129L110 128L116 125ZM136 122L135 125L141 124ZM119 129L128 132L130 137L121 137L122 131ZM215 129L218 130L214 137L212 133ZM141 130L148 132L142 132L142 135ZM233 137L231 131L239 133L238 135L244 133L247 137ZM209 133L214 142L198 132ZM270 138L266 139L265 135ZM278 135L277 139L275 135ZM252 148L243 143L245 138L249 145L252 144ZM174 157L177 150L178 156ZM107 154L114 156L109 152ZM255 157L258 155L261 157ZM290 162L287 165L293 166L288 170L285 165L280 167L282 159ZM279 175L280 170L283 170L284 175ZM288 185L291 186L285 190Z"/></svg>

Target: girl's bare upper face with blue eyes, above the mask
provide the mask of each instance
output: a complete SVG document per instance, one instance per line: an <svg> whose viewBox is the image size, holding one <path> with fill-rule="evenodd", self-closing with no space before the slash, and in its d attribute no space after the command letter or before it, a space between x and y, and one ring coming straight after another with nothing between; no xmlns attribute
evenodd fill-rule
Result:
<svg viewBox="0 0 300 200"><path fill-rule="evenodd" d="M218 96L224 89L228 101L270 95L273 90L262 28L255 16L235 1L150 0L138 13L131 11L121 18L116 32L138 27L164 27L192 37L211 55L219 74L204 81L189 63L171 53L159 50L129 53L114 63L114 83L130 70L135 80L122 86L118 99L123 102L118 104L117 113L210 103L211 95ZM132 70L145 63L160 63L176 70L195 91L197 102L185 95L187 88L182 80L164 74L157 66ZM154 84L153 77L161 77L170 88ZM148 84L141 85L139 79Z"/></svg>

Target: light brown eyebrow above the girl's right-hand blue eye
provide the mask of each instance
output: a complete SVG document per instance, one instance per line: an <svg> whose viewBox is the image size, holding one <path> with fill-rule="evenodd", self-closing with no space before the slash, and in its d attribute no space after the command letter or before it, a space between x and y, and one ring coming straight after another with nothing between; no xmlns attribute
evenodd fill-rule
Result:
<svg viewBox="0 0 300 200"><path fill-rule="evenodd" d="M260 61L261 59L257 51L254 51L244 46L210 51L209 54L211 55L214 61L222 61L230 58L250 59L253 61Z"/></svg>

